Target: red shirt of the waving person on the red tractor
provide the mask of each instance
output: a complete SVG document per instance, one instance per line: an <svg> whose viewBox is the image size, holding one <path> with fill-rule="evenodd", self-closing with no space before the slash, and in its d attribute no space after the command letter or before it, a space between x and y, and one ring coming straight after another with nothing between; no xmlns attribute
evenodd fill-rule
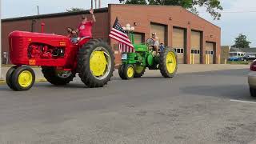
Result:
<svg viewBox="0 0 256 144"><path fill-rule="evenodd" d="M92 21L88 21L85 24L80 24L78 27L79 30L79 37L83 38L83 37L93 37L93 34L91 33L93 27L93 22Z"/></svg>

